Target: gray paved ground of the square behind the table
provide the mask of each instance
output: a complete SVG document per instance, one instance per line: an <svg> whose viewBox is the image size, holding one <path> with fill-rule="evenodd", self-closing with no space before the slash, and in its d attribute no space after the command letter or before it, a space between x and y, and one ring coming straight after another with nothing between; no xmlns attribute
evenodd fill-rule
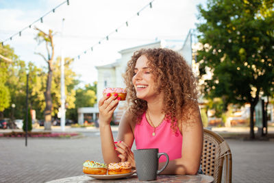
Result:
<svg viewBox="0 0 274 183"><path fill-rule="evenodd" d="M103 159L97 131L82 129L92 135L81 138L28 138L27 147L25 138L0 138L0 182L47 182L83 175L85 160ZM227 142L232 149L232 182L273 182L273 139Z"/></svg>

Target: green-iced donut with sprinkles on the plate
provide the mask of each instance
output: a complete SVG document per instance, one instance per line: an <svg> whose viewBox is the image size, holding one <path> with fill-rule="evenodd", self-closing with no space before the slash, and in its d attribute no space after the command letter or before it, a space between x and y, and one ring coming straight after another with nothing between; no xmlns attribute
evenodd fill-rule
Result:
<svg viewBox="0 0 274 183"><path fill-rule="evenodd" d="M86 160L83 164L83 172L86 174L105 175L107 171L108 165L101 162Z"/></svg>

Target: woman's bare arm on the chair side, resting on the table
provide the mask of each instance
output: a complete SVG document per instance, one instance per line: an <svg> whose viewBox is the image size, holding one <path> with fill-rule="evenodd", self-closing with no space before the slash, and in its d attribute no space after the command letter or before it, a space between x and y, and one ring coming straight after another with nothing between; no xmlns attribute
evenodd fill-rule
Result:
<svg viewBox="0 0 274 183"><path fill-rule="evenodd" d="M203 124L198 105L190 109L191 124L182 129L182 158L171 160L162 174L196 174L203 150ZM160 168L165 162L160 163Z"/></svg>

